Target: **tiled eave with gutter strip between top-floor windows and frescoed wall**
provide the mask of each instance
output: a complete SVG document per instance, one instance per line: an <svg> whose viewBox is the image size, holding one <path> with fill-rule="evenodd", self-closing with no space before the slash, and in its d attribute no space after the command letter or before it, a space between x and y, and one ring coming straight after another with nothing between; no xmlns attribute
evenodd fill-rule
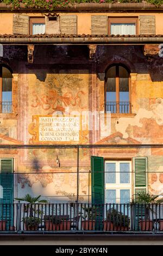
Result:
<svg viewBox="0 0 163 256"><path fill-rule="evenodd" d="M163 44L163 35L0 35L3 45L146 45Z"/></svg>

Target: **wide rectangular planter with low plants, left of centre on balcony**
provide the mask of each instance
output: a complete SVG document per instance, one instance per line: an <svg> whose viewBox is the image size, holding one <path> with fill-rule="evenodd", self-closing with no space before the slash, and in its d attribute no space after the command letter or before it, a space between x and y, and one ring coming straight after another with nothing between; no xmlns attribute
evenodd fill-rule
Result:
<svg viewBox="0 0 163 256"><path fill-rule="evenodd" d="M71 228L71 221L68 216L47 215L44 216L44 221L46 231L70 230Z"/></svg>

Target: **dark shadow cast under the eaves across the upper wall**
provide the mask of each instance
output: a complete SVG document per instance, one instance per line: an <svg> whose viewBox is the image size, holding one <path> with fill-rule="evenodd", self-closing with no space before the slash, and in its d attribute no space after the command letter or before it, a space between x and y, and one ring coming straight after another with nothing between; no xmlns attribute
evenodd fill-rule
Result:
<svg viewBox="0 0 163 256"><path fill-rule="evenodd" d="M94 59L89 58L87 45L35 46L33 63L27 62L27 52L27 46L4 46L1 62L15 74L35 74L42 82L47 74L104 74L112 63L124 64L133 73L149 74L153 82L163 81L163 58L145 56L138 45L98 45Z"/></svg>

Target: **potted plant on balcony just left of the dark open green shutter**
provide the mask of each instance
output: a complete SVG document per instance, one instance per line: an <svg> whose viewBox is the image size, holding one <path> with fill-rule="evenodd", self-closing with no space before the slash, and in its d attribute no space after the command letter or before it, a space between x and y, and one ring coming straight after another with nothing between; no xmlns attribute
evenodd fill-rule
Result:
<svg viewBox="0 0 163 256"><path fill-rule="evenodd" d="M95 220L97 217L97 207L95 205L91 207L82 207L84 213L82 212L82 228L83 230L94 230ZM84 215L84 216L83 216Z"/></svg>

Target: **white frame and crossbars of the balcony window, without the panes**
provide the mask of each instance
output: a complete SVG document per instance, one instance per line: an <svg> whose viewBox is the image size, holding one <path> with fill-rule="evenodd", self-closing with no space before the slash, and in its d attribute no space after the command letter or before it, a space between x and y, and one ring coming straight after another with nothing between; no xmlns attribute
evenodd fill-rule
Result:
<svg viewBox="0 0 163 256"><path fill-rule="evenodd" d="M106 183L106 163L116 163L116 183ZM129 183L120 183L120 163L130 164L130 182ZM106 203L106 190L116 190L116 204L120 204L120 190L130 190L130 201L131 201L132 192L133 192L131 161L130 160L105 160L104 166L105 166L105 175L104 175L105 203ZM119 183L117 181L119 181Z"/></svg>

